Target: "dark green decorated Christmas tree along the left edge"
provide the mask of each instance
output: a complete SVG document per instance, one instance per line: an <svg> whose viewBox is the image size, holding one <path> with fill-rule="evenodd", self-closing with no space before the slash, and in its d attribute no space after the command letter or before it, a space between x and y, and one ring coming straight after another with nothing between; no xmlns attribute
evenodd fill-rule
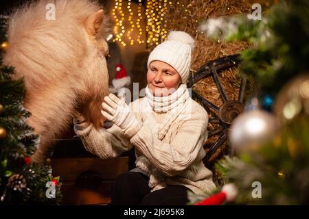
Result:
<svg viewBox="0 0 309 219"><path fill-rule="evenodd" d="M7 27L8 17L0 15L0 44L7 40ZM0 205L59 204L60 185L56 186L56 198L45 196L50 166L25 163L25 158L35 153L39 138L26 123L31 114L23 107L24 81L12 80L14 68L3 66L3 53L5 50L0 47L0 127L7 132L6 138L0 139ZM9 185L14 176L25 180L21 189L14 190L14 185Z"/></svg>

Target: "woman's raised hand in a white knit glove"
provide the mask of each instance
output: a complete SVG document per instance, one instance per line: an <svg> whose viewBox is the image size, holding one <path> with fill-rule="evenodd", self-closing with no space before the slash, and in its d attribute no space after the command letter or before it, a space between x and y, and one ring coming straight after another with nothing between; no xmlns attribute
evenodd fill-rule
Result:
<svg viewBox="0 0 309 219"><path fill-rule="evenodd" d="M114 94L104 97L102 108L102 115L124 130L129 138L134 136L141 128L141 121L137 120L130 107L126 105L123 99L119 99Z"/></svg>

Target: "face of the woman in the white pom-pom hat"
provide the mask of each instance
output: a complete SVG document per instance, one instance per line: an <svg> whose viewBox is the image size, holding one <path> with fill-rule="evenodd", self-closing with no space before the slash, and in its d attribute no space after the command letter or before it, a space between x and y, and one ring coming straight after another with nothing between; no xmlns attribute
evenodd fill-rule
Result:
<svg viewBox="0 0 309 219"><path fill-rule="evenodd" d="M169 64L153 61L148 68L147 83L152 95L168 96L177 90L181 77Z"/></svg>

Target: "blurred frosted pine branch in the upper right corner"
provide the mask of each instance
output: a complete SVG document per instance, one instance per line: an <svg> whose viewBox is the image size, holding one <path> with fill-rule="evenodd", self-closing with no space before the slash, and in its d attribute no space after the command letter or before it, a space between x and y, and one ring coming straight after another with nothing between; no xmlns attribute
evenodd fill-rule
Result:
<svg viewBox="0 0 309 219"><path fill-rule="evenodd" d="M291 78L308 73L309 1L279 1L262 20L236 16L217 21L201 27L209 37L251 44L242 52L241 70L261 81L261 92L276 94Z"/></svg>

